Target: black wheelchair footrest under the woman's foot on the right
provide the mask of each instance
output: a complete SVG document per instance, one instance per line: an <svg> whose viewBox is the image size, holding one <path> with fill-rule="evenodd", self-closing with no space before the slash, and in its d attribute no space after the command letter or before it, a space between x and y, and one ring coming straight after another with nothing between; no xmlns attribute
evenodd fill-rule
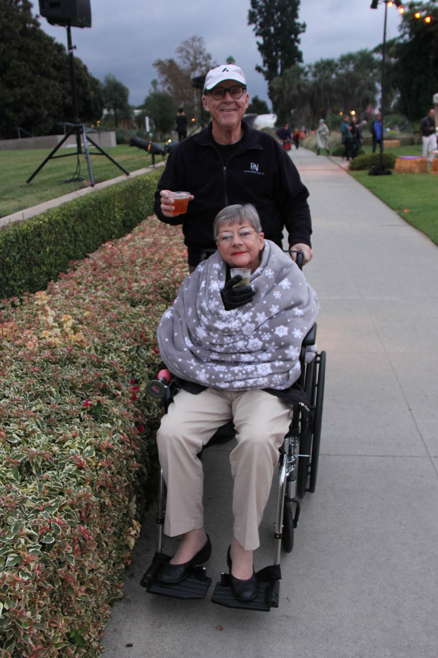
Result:
<svg viewBox="0 0 438 658"><path fill-rule="evenodd" d="M232 595L229 574L222 573L221 581L216 584L215 591L211 597L212 603L225 605L228 608L240 608L241 610L257 610L269 612L271 608L278 608L278 594L280 592L280 565L265 567L257 571L259 589L253 601L238 601Z"/></svg>

